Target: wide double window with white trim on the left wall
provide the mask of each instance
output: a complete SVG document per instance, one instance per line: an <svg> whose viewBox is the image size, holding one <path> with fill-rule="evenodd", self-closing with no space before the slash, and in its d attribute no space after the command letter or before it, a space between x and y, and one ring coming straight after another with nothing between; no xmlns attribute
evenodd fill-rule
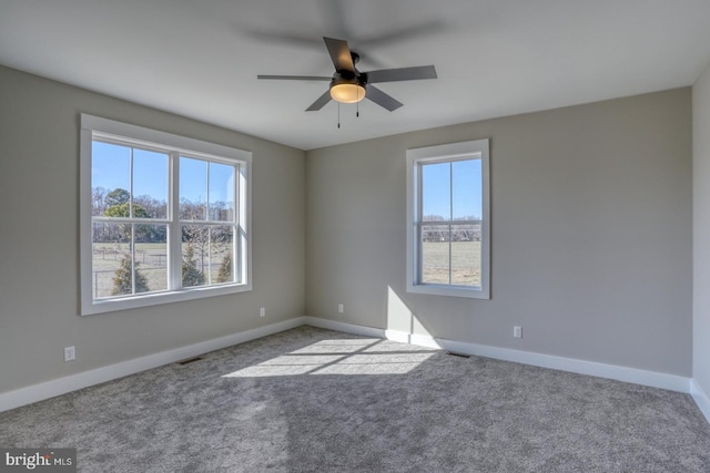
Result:
<svg viewBox="0 0 710 473"><path fill-rule="evenodd" d="M81 116L81 313L251 289L251 153Z"/></svg>

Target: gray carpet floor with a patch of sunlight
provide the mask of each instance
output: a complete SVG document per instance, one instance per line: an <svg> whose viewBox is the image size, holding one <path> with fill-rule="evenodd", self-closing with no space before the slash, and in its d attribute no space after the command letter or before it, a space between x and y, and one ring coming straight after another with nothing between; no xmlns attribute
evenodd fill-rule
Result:
<svg viewBox="0 0 710 473"><path fill-rule="evenodd" d="M0 413L81 472L710 472L688 394L301 327Z"/></svg>

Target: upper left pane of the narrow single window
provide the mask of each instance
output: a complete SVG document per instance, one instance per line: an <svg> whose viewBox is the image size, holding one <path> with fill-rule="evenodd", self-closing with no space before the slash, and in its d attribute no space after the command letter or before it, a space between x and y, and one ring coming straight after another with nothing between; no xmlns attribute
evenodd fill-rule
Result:
<svg viewBox="0 0 710 473"><path fill-rule="evenodd" d="M422 219L448 220L452 216L452 165L422 165Z"/></svg>

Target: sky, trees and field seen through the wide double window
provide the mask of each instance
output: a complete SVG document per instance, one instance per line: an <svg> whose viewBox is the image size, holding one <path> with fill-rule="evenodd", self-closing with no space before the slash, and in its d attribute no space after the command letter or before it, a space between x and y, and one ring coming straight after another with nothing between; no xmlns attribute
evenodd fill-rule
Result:
<svg viewBox="0 0 710 473"><path fill-rule="evenodd" d="M171 160L179 208L171 209ZM170 229L180 228L181 287L234 282L239 166L131 144L92 142L94 299L171 287ZM171 217L179 218L171 226ZM239 282L239 281L237 281Z"/></svg>

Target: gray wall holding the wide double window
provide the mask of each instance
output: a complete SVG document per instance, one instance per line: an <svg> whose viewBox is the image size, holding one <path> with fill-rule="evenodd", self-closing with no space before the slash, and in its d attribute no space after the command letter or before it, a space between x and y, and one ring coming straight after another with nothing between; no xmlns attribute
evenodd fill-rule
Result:
<svg viewBox="0 0 710 473"><path fill-rule="evenodd" d="M78 316L81 112L253 152L253 291ZM304 173L302 151L0 66L0 392L303 315Z"/></svg>

